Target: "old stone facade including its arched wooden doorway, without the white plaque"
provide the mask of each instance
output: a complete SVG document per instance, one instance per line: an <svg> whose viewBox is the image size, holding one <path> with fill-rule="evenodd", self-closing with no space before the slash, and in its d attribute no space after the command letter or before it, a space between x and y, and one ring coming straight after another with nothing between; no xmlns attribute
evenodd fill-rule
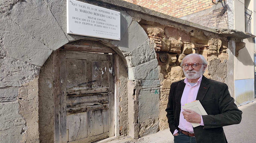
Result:
<svg viewBox="0 0 256 143"><path fill-rule="evenodd" d="M170 84L184 78L179 64L190 53L202 54L204 75L234 97L234 61L250 34L121 0L81 2L120 12L121 40L66 34L66 1L0 2L0 142L109 141L166 129Z"/></svg>

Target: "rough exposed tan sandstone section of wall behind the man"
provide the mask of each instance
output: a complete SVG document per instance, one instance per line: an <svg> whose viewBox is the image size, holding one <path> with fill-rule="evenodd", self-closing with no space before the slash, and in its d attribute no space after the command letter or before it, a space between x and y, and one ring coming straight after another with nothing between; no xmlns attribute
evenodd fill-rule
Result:
<svg viewBox="0 0 256 143"><path fill-rule="evenodd" d="M157 54L160 79L159 127L166 129L168 123L165 108L170 85L185 78L180 66L182 59L190 53L203 55L209 64L204 75L210 79L225 82L228 66L228 39L193 28L181 29L173 25L161 25L145 20L141 20L139 24L148 34ZM149 84L154 82L151 81Z"/></svg>

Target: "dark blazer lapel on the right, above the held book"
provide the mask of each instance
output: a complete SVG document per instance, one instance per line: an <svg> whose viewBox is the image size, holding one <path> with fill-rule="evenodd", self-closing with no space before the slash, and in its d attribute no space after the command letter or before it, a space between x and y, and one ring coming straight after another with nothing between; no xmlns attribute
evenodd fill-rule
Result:
<svg viewBox="0 0 256 143"><path fill-rule="evenodd" d="M198 93L197 93L196 100L199 100L200 102L203 100L206 92L208 91L208 89L210 87L208 84L209 84L208 79L205 76L203 76Z"/></svg>

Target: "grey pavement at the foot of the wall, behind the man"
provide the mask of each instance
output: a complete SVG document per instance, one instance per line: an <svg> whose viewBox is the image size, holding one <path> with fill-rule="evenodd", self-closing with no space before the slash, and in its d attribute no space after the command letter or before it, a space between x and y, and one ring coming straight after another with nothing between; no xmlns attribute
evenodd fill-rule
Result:
<svg viewBox="0 0 256 143"><path fill-rule="evenodd" d="M228 143L255 143L256 142L256 101L238 107L242 110L242 121L238 125L224 126ZM125 137L116 140L118 143L173 143L173 135L169 129L155 134L132 140ZM115 143L115 142L109 142Z"/></svg>

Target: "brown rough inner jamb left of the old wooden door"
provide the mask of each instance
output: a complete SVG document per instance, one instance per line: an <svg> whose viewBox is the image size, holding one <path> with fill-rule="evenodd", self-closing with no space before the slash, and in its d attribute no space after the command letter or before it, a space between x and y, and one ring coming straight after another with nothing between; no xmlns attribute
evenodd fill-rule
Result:
<svg viewBox="0 0 256 143"><path fill-rule="evenodd" d="M38 82L38 124L40 143L54 142L53 54L51 54L42 66ZM33 85L31 82L28 84ZM26 85L29 86L28 84Z"/></svg>

